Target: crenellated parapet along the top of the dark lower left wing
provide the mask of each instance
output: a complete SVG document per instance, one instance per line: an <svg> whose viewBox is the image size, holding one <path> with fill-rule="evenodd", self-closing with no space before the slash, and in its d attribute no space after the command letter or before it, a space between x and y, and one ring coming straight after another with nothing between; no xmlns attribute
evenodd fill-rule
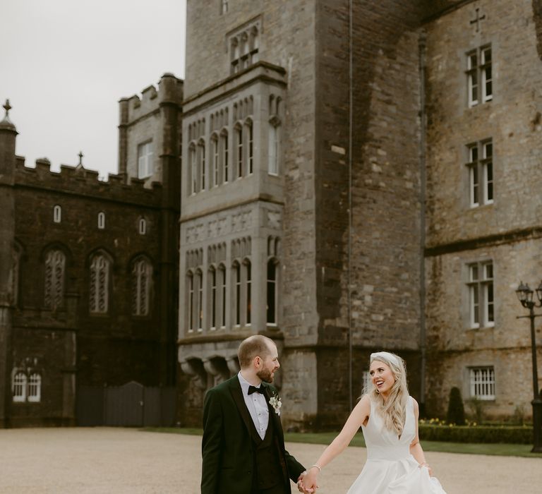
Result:
<svg viewBox="0 0 542 494"><path fill-rule="evenodd" d="M150 207L158 207L162 199L162 184L158 182L152 182L152 186L148 188L144 187L144 180L132 178L126 184L121 175L114 174L109 174L108 181L101 181L95 170L66 164L61 164L60 171L52 171L51 162L47 158L36 159L35 164L35 168L27 167L24 157L16 157L16 187L58 191Z"/></svg>

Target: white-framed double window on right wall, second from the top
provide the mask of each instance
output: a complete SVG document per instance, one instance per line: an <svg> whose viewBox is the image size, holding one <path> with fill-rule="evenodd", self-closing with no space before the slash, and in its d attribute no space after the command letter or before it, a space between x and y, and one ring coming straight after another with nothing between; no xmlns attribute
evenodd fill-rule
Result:
<svg viewBox="0 0 542 494"><path fill-rule="evenodd" d="M470 206L493 204L493 141L469 144L467 152Z"/></svg>

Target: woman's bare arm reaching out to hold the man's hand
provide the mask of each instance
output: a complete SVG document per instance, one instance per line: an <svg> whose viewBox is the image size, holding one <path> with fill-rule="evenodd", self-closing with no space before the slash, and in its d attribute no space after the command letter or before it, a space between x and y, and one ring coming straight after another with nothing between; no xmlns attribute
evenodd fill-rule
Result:
<svg viewBox="0 0 542 494"><path fill-rule="evenodd" d="M352 413L350 414L347 422L344 424L344 427L339 435L337 435L333 442L325 448L320 458L318 458L318 462L308 469L306 476L303 478L303 486L306 489L315 489L316 479L318 478L320 469L323 469L324 466L331 462L332 459L344 451L344 449L350 444L352 438L354 438L354 435L358 429L361 427L361 424L364 423L369 417L370 413L371 402L366 394L363 398L361 398L361 400L359 400L359 403L354 406L354 410L352 410Z"/></svg>

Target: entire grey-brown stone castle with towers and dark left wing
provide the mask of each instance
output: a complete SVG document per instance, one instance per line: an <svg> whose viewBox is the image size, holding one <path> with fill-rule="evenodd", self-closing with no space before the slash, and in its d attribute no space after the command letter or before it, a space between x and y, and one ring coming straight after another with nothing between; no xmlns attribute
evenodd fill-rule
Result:
<svg viewBox="0 0 542 494"><path fill-rule="evenodd" d="M186 78L121 100L109 183L25 168L0 124L0 418L74 421L78 386L136 380L198 425L255 332L288 427L341 423L380 349L431 416L453 386L529 415L541 2L187 4Z"/></svg>

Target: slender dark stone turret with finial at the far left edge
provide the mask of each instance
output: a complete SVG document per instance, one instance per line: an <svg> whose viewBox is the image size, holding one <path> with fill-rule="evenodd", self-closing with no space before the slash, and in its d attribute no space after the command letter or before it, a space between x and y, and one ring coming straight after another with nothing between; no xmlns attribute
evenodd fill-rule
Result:
<svg viewBox="0 0 542 494"><path fill-rule="evenodd" d="M11 402L11 311L16 298L15 255L15 140L17 130L6 115L0 122L0 427L8 426Z"/></svg>

